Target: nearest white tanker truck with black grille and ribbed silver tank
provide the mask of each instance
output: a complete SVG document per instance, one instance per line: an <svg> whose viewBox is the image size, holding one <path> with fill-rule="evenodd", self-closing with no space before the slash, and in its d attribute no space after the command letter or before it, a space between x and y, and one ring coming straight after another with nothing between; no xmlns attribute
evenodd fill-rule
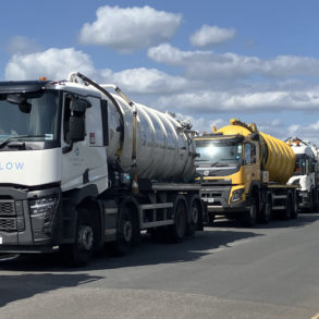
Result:
<svg viewBox="0 0 319 319"><path fill-rule="evenodd" d="M0 253L54 253L74 266L161 232L201 228L193 132L115 85L0 83Z"/></svg>

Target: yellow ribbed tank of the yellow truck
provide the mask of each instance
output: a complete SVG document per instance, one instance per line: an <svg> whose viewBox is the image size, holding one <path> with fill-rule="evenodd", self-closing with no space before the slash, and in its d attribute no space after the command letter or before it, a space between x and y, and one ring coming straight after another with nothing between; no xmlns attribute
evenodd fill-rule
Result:
<svg viewBox="0 0 319 319"><path fill-rule="evenodd" d="M232 122L232 121L231 121ZM269 171L269 182L278 182L285 184L293 175L295 168L295 155L291 147L284 142L272 137L268 134L257 131L256 125L226 125L218 130L224 135L243 135L247 136L251 133L259 134L259 143L261 149L262 165L261 169Z"/></svg>

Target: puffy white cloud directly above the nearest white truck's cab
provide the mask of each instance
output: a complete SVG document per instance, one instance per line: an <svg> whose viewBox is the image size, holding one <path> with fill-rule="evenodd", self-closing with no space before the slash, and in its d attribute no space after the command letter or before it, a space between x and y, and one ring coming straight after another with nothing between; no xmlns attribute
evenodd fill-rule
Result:
<svg viewBox="0 0 319 319"><path fill-rule="evenodd" d="M14 54L5 66L5 78L35 79L42 75L63 79L72 71L95 74L94 64L87 54L73 48L52 48L38 53Z"/></svg>

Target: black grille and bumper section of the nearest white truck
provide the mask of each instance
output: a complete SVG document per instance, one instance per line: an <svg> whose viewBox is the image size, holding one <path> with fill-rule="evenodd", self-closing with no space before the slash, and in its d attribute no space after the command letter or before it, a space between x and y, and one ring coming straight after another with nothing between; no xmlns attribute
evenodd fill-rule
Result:
<svg viewBox="0 0 319 319"><path fill-rule="evenodd" d="M30 200L57 196L50 213L30 212ZM28 191L0 186L0 253L41 253L58 243L60 188Z"/></svg>

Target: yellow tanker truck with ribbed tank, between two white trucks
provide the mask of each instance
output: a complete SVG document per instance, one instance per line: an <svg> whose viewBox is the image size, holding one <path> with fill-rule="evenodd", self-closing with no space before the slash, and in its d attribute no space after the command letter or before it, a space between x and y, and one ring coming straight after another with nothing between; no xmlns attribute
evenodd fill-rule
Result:
<svg viewBox="0 0 319 319"><path fill-rule="evenodd" d="M231 124L195 137L197 180L207 220L240 219L246 226L272 216L296 218L296 186L287 185L295 167L293 150L256 124Z"/></svg>

